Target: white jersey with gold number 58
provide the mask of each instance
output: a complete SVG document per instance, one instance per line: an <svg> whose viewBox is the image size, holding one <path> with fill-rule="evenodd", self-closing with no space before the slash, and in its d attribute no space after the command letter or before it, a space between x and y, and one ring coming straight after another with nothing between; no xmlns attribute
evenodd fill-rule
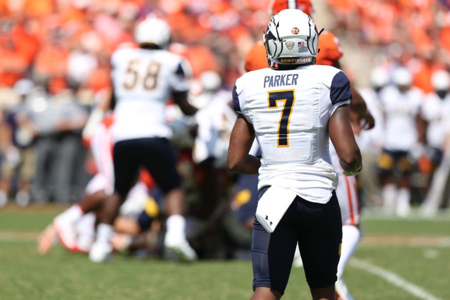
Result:
<svg viewBox="0 0 450 300"><path fill-rule="evenodd" d="M189 89L190 68L166 50L123 48L111 57L116 105L114 141L166 137L165 105L172 92Z"/></svg>

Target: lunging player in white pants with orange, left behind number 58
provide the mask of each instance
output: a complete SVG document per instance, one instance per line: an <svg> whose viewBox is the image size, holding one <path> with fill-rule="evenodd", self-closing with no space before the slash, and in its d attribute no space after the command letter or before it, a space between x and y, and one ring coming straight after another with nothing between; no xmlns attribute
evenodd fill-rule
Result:
<svg viewBox="0 0 450 300"><path fill-rule="evenodd" d="M101 123L94 125L93 132L86 133L85 142L90 145L97 173L87 183L85 197L79 203L58 214L39 235L39 253L46 253L51 249L54 245L53 237L57 237L60 244L68 251L84 254L89 252L95 235L95 213L103 205L108 195L113 192L114 187L112 123L113 115L109 114ZM145 229L152 218L150 214L145 213L145 210L142 211L145 199L150 199L143 173L128 193L125 203L120 207L120 214L122 216L136 216L136 223L142 229ZM116 221L121 221L119 222L121 224L124 223L123 218ZM115 224L117 225L117 222ZM123 225L120 227L115 229L119 229L119 232L127 232L123 229Z"/></svg>

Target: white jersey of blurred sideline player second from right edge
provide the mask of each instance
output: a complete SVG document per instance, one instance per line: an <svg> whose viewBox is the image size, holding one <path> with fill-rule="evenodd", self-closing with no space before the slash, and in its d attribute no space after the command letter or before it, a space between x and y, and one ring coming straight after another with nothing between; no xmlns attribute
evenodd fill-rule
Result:
<svg viewBox="0 0 450 300"><path fill-rule="evenodd" d="M401 93L396 86L380 91L385 131L383 146L388 150L409 151L417 142L416 116L422 103L422 93L410 88Z"/></svg>

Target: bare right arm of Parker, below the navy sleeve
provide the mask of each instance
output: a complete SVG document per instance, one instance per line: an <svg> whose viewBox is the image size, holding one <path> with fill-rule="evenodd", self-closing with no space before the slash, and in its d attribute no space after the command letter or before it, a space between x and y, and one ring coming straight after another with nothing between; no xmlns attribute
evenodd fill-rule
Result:
<svg viewBox="0 0 450 300"><path fill-rule="evenodd" d="M334 111L329 119L328 131L343 170L358 173L362 169L362 158L351 128L348 105L341 105Z"/></svg>

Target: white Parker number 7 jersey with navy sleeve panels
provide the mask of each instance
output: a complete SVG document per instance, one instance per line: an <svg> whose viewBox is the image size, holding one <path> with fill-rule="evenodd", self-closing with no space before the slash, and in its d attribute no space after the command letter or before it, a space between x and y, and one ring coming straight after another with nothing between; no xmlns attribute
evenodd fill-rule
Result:
<svg viewBox="0 0 450 300"><path fill-rule="evenodd" d="M258 189L276 185L326 203L337 185L328 121L350 98L348 78L332 66L265 68L237 79L234 110L253 125L262 152Z"/></svg>

